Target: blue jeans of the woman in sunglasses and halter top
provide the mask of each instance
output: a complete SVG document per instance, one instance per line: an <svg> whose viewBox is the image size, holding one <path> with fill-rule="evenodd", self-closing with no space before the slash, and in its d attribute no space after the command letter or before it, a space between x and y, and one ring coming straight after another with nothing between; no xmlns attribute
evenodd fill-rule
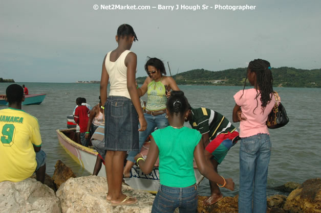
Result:
<svg viewBox="0 0 321 213"><path fill-rule="evenodd" d="M156 116L144 113L147 128L145 131L139 132L139 151L141 150L146 138L155 130L155 127L157 127L157 129L163 129L169 125L165 115L166 113ZM127 156L127 160L135 162L134 157L139 153L139 151L131 151Z"/></svg>

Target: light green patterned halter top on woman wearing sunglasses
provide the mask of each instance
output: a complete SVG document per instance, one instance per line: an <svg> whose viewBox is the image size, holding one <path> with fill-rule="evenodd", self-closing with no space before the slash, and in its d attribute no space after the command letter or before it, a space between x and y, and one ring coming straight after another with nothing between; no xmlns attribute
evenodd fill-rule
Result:
<svg viewBox="0 0 321 213"><path fill-rule="evenodd" d="M158 111L166 109L165 86L161 81L154 80L147 85L147 104L146 109L149 111Z"/></svg>

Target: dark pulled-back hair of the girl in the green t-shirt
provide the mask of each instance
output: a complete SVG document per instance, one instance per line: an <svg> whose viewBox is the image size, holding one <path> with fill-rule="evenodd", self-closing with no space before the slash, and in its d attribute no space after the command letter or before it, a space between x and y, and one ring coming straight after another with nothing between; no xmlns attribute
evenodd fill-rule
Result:
<svg viewBox="0 0 321 213"><path fill-rule="evenodd" d="M166 107L170 115L184 116L184 112L188 110L188 101L184 96L183 91L172 91L170 97L167 99Z"/></svg>

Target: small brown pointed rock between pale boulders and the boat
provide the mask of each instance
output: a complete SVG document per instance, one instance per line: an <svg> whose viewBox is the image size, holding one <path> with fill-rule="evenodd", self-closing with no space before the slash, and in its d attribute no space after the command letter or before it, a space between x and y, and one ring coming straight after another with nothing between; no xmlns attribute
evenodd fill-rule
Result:
<svg viewBox="0 0 321 213"><path fill-rule="evenodd" d="M76 177L74 172L61 160L57 160L55 168L56 169L54 175L52 176L52 179L54 180L56 188L59 188L60 185L66 182L69 178Z"/></svg>

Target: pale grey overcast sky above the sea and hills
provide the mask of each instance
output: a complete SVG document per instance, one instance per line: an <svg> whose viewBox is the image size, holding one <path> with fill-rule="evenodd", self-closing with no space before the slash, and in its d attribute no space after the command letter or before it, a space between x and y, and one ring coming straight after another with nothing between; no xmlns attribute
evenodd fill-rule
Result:
<svg viewBox="0 0 321 213"><path fill-rule="evenodd" d="M118 5L147 9L121 10ZM255 9L232 10L246 5ZM319 0L1 1L0 77L16 82L100 80L103 58L117 48L115 35L123 23L138 37L131 49L138 57L137 77L146 76L147 56L160 58L166 68L169 62L173 75L246 67L256 58L272 67L321 68L320 8Z"/></svg>

